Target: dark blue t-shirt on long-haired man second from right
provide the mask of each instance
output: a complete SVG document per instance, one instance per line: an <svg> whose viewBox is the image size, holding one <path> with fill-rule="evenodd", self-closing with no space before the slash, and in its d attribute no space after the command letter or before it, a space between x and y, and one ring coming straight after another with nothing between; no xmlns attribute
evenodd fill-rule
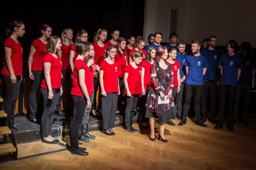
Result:
<svg viewBox="0 0 256 170"><path fill-rule="evenodd" d="M242 57L234 54L221 56L218 65L222 66L221 85L237 86L237 69L243 68Z"/></svg>

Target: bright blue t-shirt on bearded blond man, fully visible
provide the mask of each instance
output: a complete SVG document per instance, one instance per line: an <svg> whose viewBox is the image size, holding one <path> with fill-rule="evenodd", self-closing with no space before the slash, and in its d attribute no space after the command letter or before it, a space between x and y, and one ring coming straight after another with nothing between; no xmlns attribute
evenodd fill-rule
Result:
<svg viewBox="0 0 256 170"><path fill-rule="evenodd" d="M209 66L207 58L203 55L186 57L184 65L189 67L188 74L186 76L186 83L191 85L203 85L204 84L204 68Z"/></svg>

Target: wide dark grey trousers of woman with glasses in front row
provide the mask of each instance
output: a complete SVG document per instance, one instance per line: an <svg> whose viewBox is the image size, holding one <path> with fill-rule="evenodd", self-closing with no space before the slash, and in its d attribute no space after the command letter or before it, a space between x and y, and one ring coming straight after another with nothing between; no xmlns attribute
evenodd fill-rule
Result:
<svg viewBox="0 0 256 170"><path fill-rule="evenodd" d="M103 129L114 127L116 118L116 104L118 93L108 93L107 96L102 96L102 119Z"/></svg>

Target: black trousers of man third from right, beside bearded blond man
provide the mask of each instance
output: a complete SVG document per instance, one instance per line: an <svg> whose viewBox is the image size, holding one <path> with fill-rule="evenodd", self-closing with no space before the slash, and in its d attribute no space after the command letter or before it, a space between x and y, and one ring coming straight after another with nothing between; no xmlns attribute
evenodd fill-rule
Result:
<svg viewBox="0 0 256 170"><path fill-rule="evenodd" d="M207 119L207 97L210 91L210 115L209 119L216 117L216 94L217 94L217 81L204 79L201 108L204 119Z"/></svg>

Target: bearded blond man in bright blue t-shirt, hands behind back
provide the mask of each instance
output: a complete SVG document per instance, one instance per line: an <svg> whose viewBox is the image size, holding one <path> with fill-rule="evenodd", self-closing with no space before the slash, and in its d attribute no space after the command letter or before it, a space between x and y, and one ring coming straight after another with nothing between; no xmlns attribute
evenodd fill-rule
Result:
<svg viewBox="0 0 256 170"><path fill-rule="evenodd" d="M186 118L189 113L189 107L192 95L194 94L195 118L196 125L207 127L201 120L200 100L202 96L204 75L209 66L207 58L200 54L201 42L193 40L191 44L192 55L186 57L184 65L186 66L186 84L185 84L185 101L183 106L182 120L178 124L182 126L186 124Z"/></svg>

